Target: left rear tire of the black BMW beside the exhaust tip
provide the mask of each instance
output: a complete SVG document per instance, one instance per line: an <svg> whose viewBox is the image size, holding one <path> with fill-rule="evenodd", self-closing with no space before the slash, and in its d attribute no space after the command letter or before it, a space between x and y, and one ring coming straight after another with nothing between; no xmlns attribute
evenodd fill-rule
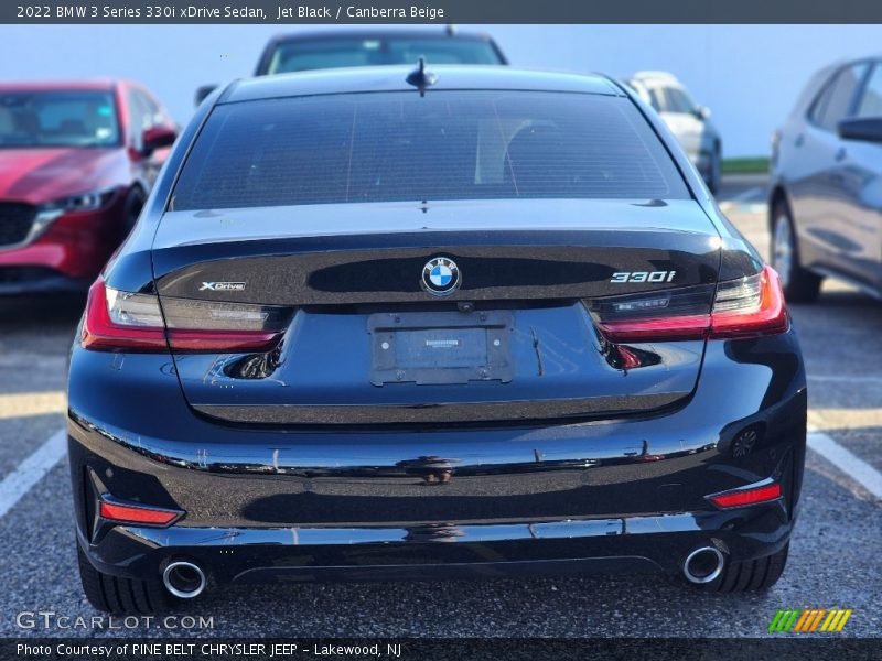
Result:
<svg viewBox="0 0 882 661"><path fill-rule="evenodd" d="M120 578L99 572L76 545L83 592L95 608L119 615L150 615L168 610L173 602L162 582Z"/></svg>

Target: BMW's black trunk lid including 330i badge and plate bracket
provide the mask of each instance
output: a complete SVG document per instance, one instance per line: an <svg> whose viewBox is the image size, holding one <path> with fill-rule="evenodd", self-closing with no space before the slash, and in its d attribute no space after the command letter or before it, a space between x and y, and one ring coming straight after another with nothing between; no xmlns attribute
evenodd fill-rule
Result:
<svg viewBox="0 0 882 661"><path fill-rule="evenodd" d="M421 285L439 256L461 278L443 297ZM206 415L528 422L645 413L688 398L703 340L611 345L589 307L712 286L719 236L690 201L172 212L153 263L164 308L208 301L290 313L271 351L174 355L184 395Z"/></svg>

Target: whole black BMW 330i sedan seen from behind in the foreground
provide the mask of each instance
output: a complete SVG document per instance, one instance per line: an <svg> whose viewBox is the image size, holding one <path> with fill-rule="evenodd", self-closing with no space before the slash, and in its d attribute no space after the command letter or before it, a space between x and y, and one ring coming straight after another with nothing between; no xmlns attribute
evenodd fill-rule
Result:
<svg viewBox="0 0 882 661"><path fill-rule="evenodd" d="M775 272L602 76L383 67L201 106L72 353L90 602L246 581L781 575Z"/></svg>

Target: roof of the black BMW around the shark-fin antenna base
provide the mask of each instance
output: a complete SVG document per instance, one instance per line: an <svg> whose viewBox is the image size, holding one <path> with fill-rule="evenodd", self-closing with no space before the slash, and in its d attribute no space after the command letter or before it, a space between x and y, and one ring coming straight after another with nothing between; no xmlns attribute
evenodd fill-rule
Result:
<svg viewBox="0 0 882 661"><path fill-rule="evenodd" d="M417 89L405 78L413 66L361 66L340 69L318 69L294 74L258 76L232 83L218 98L218 104L233 104L257 99L312 96L326 94L357 94L369 91L413 91ZM624 96L607 77L599 74L568 74L544 71L517 69L507 66L439 65L427 63L426 68L438 76L433 90L525 90L570 91Z"/></svg>

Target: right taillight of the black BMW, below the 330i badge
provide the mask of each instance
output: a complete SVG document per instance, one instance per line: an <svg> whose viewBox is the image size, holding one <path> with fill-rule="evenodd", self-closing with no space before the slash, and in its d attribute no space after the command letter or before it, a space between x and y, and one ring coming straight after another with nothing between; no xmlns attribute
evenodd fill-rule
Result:
<svg viewBox="0 0 882 661"><path fill-rule="evenodd" d="M601 333L614 343L732 338L787 329L777 273L760 273L717 285L662 290L591 303Z"/></svg>

